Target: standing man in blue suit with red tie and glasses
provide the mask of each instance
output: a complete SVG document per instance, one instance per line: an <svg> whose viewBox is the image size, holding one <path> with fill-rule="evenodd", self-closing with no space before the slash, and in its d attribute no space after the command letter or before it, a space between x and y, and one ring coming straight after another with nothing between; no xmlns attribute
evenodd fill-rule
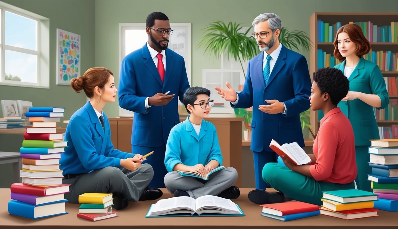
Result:
<svg viewBox="0 0 398 229"><path fill-rule="evenodd" d="M164 154L171 128L179 123L178 101L189 88L182 56L167 49L173 33L168 17L153 12L146 18L148 43L123 58L119 81L119 105L134 112L131 149L145 155L154 177L149 187L165 187ZM170 94L166 92L170 91Z"/></svg>

